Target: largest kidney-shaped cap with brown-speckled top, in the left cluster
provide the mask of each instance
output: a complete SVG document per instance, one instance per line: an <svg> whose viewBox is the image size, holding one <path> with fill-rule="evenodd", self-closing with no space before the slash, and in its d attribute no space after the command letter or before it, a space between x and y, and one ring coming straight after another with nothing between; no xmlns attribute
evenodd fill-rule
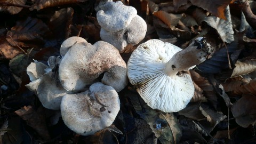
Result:
<svg viewBox="0 0 256 144"><path fill-rule="evenodd" d="M84 91L85 87L104 73L101 82L117 92L128 83L126 63L119 51L111 44L99 41L77 43L69 49L59 66L59 78L68 91Z"/></svg>

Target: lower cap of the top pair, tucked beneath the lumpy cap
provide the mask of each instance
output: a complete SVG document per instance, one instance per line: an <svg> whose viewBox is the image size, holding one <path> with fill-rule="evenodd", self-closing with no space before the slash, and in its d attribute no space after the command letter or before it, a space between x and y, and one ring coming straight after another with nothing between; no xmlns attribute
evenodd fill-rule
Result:
<svg viewBox="0 0 256 144"><path fill-rule="evenodd" d="M119 51L123 51L127 44L138 44L145 37L147 32L147 23L136 15L130 25L126 28L110 32L103 28L100 30L100 37L102 41L114 45Z"/></svg>

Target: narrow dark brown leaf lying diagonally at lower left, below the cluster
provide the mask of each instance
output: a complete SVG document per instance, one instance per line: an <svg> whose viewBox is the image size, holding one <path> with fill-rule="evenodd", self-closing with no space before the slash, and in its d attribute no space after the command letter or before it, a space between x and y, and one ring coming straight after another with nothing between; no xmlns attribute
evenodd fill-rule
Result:
<svg viewBox="0 0 256 144"><path fill-rule="evenodd" d="M14 113L25 120L44 140L50 139L44 119L42 119L31 106L24 106L14 111Z"/></svg>

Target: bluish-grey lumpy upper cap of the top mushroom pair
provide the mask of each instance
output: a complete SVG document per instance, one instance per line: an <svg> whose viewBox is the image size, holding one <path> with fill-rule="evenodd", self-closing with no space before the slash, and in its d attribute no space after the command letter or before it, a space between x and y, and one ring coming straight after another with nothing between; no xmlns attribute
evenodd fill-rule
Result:
<svg viewBox="0 0 256 144"><path fill-rule="evenodd" d="M97 12L99 25L111 32L119 31L127 27L137 15L137 10L132 6L126 6L122 2L107 2Z"/></svg>

